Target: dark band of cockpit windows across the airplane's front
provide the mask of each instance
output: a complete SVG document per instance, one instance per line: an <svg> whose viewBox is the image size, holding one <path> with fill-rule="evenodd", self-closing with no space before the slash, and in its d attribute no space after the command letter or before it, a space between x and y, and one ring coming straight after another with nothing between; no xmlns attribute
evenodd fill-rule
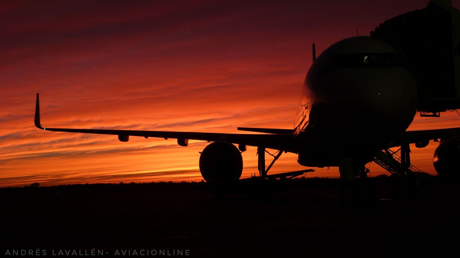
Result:
<svg viewBox="0 0 460 258"><path fill-rule="evenodd" d="M406 59L398 53L343 54L332 57L321 74L350 67L403 67L411 70Z"/></svg>

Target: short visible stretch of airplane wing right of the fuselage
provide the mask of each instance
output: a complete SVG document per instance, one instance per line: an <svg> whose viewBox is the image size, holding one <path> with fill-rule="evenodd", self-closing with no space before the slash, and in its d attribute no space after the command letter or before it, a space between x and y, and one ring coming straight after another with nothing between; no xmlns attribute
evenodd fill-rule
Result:
<svg viewBox="0 0 460 258"><path fill-rule="evenodd" d="M394 141L391 147L401 146L404 143L417 143L428 140L447 139L456 135L460 135L460 127L445 128L445 129L432 129L432 130L418 130L418 131L406 131L396 141Z"/></svg>

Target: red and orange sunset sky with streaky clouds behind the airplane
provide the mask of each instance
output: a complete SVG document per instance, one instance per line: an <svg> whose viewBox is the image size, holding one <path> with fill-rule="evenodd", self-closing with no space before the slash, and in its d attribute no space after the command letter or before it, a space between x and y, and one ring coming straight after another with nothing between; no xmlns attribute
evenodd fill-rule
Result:
<svg viewBox="0 0 460 258"><path fill-rule="evenodd" d="M311 43L334 42L424 8L427 0L2 1L0 186L201 180L208 143L35 128L238 133L293 128ZM460 0L453 1L456 8ZM346 114L344 114L346 115ZM416 115L409 129L460 126L455 112ZM365 121L363 121L365 123ZM436 174L437 143L411 146L412 163ZM256 148L242 177L257 173ZM267 163L271 158L267 156ZM374 163L371 175L384 171ZM305 169L283 154L270 170ZM338 176L319 168L309 176Z"/></svg>

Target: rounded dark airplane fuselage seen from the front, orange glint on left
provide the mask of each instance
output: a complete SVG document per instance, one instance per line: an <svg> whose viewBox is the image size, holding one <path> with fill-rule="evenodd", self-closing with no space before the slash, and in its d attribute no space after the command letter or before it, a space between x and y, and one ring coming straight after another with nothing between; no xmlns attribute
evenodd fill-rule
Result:
<svg viewBox="0 0 460 258"><path fill-rule="evenodd" d="M298 162L367 163L408 128L417 82L404 56L371 37L343 39L324 50L307 73L294 134Z"/></svg>

